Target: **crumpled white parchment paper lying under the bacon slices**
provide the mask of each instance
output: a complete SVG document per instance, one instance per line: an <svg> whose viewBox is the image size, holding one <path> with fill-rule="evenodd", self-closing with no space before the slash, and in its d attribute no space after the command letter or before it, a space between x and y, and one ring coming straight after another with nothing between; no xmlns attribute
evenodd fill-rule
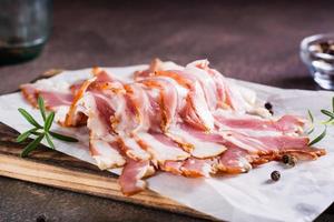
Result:
<svg viewBox="0 0 334 222"><path fill-rule="evenodd" d="M145 65L106 68L121 79L129 78L134 70ZM87 79L90 69L65 71L50 79L55 84ZM331 109L334 93L327 91L283 90L244 81L238 84L256 91L258 98L274 105L275 114L305 115L310 109L321 119L321 109ZM32 109L20 93L0 97L0 121L23 132L29 123L17 111L24 108L41 121L39 111ZM88 135L85 129L53 130L77 137L79 143L55 140L58 151L95 164L89 154ZM46 141L43 141L45 144ZM148 179L149 189L179 203L224 221L312 221L334 201L334 128L317 147L327 154L316 161L299 162L295 168L285 168L277 162L264 164L245 174L209 179L187 179L168 173L157 173ZM274 170L281 171L281 180L271 182ZM119 170L114 172L119 173Z"/></svg>

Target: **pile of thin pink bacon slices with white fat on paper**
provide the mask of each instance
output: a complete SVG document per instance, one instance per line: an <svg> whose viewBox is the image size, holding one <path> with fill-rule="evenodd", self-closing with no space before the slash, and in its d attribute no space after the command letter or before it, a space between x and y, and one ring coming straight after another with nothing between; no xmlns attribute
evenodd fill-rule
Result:
<svg viewBox="0 0 334 222"><path fill-rule="evenodd" d="M63 127L87 125L90 152L100 169L122 167L121 191L146 188L144 178L165 171L197 178L243 173L283 154L315 160L325 154L308 147L305 121L274 118L250 90L242 90L199 60L185 68L154 60L131 81L92 69L94 77L63 91L42 81L23 84L37 105L66 113Z"/></svg>

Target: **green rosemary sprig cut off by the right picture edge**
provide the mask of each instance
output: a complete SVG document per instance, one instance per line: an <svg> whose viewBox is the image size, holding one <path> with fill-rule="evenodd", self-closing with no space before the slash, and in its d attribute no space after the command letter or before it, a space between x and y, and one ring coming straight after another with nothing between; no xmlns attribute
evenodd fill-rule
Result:
<svg viewBox="0 0 334 222"><path fill-rule="evenodd" d="M327 133L327 127L328 125L333 125L334 124L334 97L332 98L332 110L325 110L325 109L322 109L321 112L328 118L328 120L325 120L325 121L321 121L320 124L323 124L324 125L324 130L321 134L318 134L315 139L313 139L308 145L314 145L315 143L320 142L321 140L323 140L325 137L326 137L326 133ZM308 118L310 118L310 121L311 121L311 128L307 132L307 134L311 134L313 133L314 131L314 118L313 118L313 114L311 113L310 110L307 110L307 113L308 113Z"/></svg>

